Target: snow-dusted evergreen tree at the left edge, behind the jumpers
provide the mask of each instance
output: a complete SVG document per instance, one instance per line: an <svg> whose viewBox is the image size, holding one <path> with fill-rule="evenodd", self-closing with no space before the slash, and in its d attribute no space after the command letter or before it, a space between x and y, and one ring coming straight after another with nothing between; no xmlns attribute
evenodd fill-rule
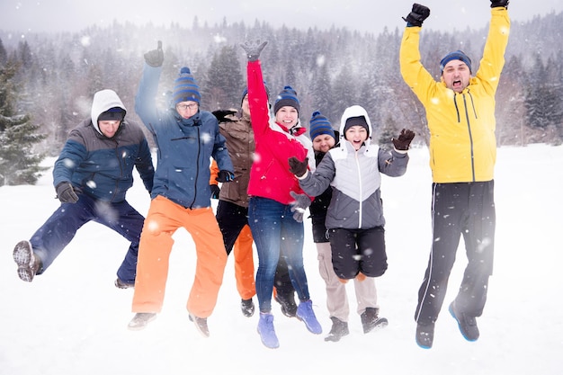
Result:
<svg viewBox="0 0 563 375"><path fill-rule="evenodd" d="M0 67L0 186L36 183L40 172L47 169L40 166L43 156L33 151L44 138L38 134L40 125L15 109L13 76L17 68L14 62Z"/></svg>

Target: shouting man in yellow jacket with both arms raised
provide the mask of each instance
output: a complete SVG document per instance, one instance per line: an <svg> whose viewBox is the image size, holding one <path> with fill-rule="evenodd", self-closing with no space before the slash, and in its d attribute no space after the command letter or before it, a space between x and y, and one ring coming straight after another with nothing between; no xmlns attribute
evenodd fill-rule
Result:
<svg viewBox="0 0 563 375"><path fill-rule="evenodd" d="M448 53L436 82L420 62L422 23L430 10L413 4L404 18L401 74L424 105L430 130L433 174L433 244L418 291L416 344L429 349L442 308L460 236L469 260L450 313L468 341L478 339L476 317L483 313L495 245L494 168L496 161L495 94L508 42L508 0L491 1L487 42L473 76L470 58Z"/></svg>

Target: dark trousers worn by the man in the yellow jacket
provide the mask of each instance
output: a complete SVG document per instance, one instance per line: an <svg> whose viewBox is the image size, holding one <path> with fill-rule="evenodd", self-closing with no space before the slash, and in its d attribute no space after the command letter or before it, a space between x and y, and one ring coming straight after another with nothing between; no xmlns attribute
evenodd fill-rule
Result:
<svg viewBox="0 0 563 375"><path fill-rule="evenodd" d="M468 265L455 299L456 308L480 317L493 273L495 183L433 183L433 243L424 281L418 290L415 320L434 323L442 308L448 279L463 236Z"/></svg>

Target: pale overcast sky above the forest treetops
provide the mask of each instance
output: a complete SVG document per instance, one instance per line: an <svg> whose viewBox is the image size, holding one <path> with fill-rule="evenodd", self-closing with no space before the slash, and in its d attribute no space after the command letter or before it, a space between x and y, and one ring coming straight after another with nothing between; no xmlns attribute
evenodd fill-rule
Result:
<svg viewBox="0 0 563 375"><path fill-rule="evenodd" d="M488 21L487 0L416 0L428 6L430 18L424 27L451 31L467 26L479 28ZM18 32L80 31L114 20L143 25L168 26L170 22L192 25L194 16L201 24L270 22L274 27L320 29L332 25L351 30L379 33L384 26L393 31L402 28L401 16L410 12L408 0L0 0L0 30ZM513 21L528 21L534 15L560 13L563 0L512 0L509 6Z"/></svg>

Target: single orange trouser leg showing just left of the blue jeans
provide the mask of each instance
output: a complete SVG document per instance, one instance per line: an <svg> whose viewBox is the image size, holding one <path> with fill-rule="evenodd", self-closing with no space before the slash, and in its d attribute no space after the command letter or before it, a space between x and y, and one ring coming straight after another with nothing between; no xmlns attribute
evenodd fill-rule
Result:
<svg viewBox="0 0 563 375"><path fill-rule="evenodd" d="M233 252L235 253L237 290L241 299L252 299L256 294L253 242L254 238L252 237L250 227L246 225L240 231L233 248Z"/></svg>

